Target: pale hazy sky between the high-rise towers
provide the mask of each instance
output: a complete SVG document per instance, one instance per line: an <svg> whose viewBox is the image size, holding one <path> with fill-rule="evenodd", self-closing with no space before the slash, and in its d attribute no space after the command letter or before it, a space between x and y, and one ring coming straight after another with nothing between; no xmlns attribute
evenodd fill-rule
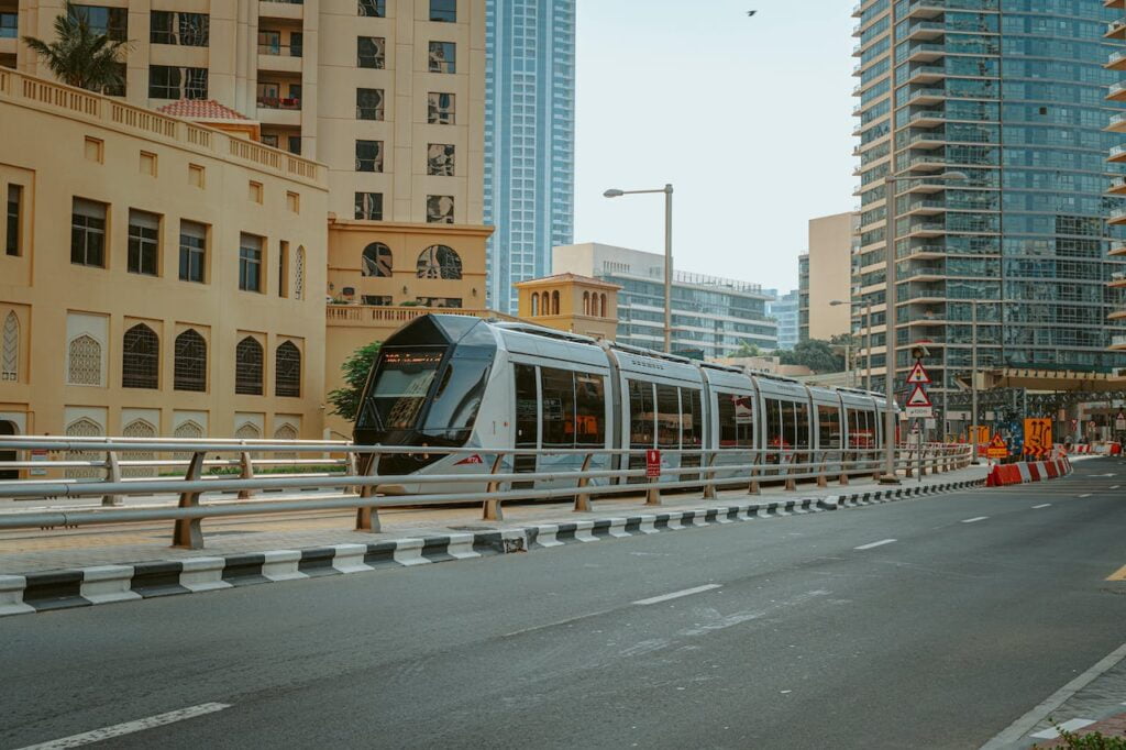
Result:
<svg viewBox="0 0 1126 750"><path fill-rule="evenodd" d="M806 222L850 211L854 0L577 0L575 242L797 286ZM758 10L748 18L748 10Z"/></svg>

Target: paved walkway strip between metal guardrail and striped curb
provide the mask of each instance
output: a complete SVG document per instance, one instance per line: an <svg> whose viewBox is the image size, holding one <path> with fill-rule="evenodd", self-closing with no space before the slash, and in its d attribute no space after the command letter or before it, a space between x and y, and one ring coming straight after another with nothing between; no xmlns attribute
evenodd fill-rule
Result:
<svg viewBox="0 0 1126 750"><path fill-rule="evenodd" d="M923 484L936 485L984 479L988 467L968 466L953 472L928 475ZM903 479L904 486L920 483L918 477ZM799 486L787 492L783 488L765 488L756 499L765 501L824 498L882 489L870 479L854 479L847 486L832 483L829 488ZM327 493L316 493L327 494ZM307 499L314 493L265 493L257 499ZM753 495L752 495L753 497ZM699 492L668 494L661 509L686 510L745 501L745 491L720 492L717 500L704 500ZM158 499L159 500L159 499ZM93 501L97 505L97 501ZM155 502L155 501L152 501ZM163 500L167 502L167 499ZM62 505L62 503L59 503ZM141 505L129 501L131 506ZM150 505L150 503L146 503ZM0 512L32 511L57 507L53 503L5 503ZM77 506L69 501L68 508ZM352 530L355 511L310 511L244 518L221 518L203 523L204 550L170 547L171 521L83 526L70 529L19 529L0 532L0 574L21 574L68 568L127 564L158 560L256 553L269 550L301 550L338 544L367 544L400 538L419 538L466 532L503 530L534 524L573 523L636 515L643 508L642 498L595 499L592 512L573 512L571 502L536 502L504 507L503 521L482 520L481 506L441 508L393 508L379 511L383 530L367 534Z"/></svg>

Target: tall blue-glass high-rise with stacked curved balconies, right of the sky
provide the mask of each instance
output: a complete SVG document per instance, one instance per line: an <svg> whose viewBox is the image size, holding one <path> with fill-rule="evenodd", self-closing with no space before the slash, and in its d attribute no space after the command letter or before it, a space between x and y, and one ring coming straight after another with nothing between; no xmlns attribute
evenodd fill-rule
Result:
<svg viewBox="0 0 1126 750"><path fill-rule="evenodd" d="M885 367L885 242L893 176L897 369L930 354L941 402L971 364L1109 370L1105 130L1114 11L1103 0L865 0L855 11L861 217L854 304L873 304ZM1002 12L1003 11L1003 12ZM894 36L894 38L893 38ZM894 104L893 104L894 97ZM902 378L901 378L902 380Z"/></svg>

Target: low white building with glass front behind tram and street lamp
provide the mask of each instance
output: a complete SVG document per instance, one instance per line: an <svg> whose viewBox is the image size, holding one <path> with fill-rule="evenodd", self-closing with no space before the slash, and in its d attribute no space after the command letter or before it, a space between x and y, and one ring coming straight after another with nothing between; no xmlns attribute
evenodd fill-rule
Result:
<svg viewBox="0 0 1126 750"><path fill-rule="evenodd" d="M663 350L663 255L587 242L555 248L552 262L555 274L592 276L620 286L615 340ZM673 352L713 359L744 342L776 349L778 325L767 316L769 298L758 284L673 270Z"/></svg>

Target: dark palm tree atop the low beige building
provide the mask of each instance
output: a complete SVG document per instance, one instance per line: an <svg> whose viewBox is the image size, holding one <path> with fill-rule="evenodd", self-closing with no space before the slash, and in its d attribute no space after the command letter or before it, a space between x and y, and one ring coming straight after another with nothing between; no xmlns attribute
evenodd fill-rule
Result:
<svg viewBox="0 0 1126 750"><path fill-rule="evenodd" d="M47 44L25 36L24 44L43 59L60 81L88 91L124 88L123 53L129 43L95 30L86 8L72 6L68 0L65 12L55 19L55 42Z"/></svg>

